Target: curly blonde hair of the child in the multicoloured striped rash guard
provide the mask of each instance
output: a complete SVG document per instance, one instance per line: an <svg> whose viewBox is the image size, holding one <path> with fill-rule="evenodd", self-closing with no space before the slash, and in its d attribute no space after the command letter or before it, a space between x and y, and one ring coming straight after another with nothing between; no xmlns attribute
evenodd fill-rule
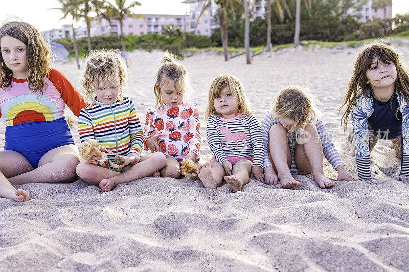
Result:
<svg viewBox="0 0 409 272"><path fill-rule="evenodd" d="M85 59L84 71L81 84L82 93L88 102L95 98L96 83L99 79L105 81L108 78L118 76L120 89L117 101L123 102L123 93L128 90L128 70L125 62L119 55L119 50L93 50Z"/></svg>

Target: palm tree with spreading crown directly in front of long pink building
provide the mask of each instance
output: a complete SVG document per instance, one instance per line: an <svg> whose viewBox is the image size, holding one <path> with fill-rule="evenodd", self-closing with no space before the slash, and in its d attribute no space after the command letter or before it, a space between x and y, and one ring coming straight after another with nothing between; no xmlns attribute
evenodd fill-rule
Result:
<svg viewBox="0 0 409 272"><path fill-rule="evenodd" d="M131 11L133 7L141 6L141 3L134 1L128 6L126 6L126 0L115 0L115 5L112 5L110 2L105 2L104 12L101 13L102 17L110 21L118 20L119 26L121 29L121 43L122 43L122 51L125 52L125 40L124 40L124 31L123 31L123 21L125 17L137 17L142 18L141 15L137 15Z"/></svg>

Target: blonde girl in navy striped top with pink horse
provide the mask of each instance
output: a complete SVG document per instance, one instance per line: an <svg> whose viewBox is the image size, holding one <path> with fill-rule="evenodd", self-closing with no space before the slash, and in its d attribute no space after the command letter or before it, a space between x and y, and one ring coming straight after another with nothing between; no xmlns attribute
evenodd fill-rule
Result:
<svg viewBox="0 0 409 272"><path fill-rule="evenodd" d="M237 192L252 174L264 180L263 138L241 81L233 75L216 77L209 90L206 134L214 158L197 168L203 185L220 186L222 179Z"/></svg>

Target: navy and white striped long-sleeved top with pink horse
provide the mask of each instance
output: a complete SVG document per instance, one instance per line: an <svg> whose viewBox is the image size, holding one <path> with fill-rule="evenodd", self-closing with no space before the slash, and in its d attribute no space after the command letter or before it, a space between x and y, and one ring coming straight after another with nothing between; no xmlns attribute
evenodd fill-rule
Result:
<svg viewBox="0 0 409 272"><path fill-rule="evenodd" d="M213 156L222 164L227 156L253 158L253 166L263 167L263 136L254 116L239 114L232 119L211 115L206 135Z"/></svg>

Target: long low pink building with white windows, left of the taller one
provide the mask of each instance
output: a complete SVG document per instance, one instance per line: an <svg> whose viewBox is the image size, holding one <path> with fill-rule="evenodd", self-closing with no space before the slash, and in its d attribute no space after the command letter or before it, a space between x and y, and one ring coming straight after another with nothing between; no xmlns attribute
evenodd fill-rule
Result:
<svg viewBox="0 0 409 272"><path fill-rule="evenodd" d="M142 35L148 33L162 34L162 26L179 26L181 31L185 31L186 19L188 15L175 14L140 14L143 18L127 17L123 21L124 35ZM90 35L101 36L116 34L121 35L121 27L118 20L106 19L91 22Z"/></svg>

